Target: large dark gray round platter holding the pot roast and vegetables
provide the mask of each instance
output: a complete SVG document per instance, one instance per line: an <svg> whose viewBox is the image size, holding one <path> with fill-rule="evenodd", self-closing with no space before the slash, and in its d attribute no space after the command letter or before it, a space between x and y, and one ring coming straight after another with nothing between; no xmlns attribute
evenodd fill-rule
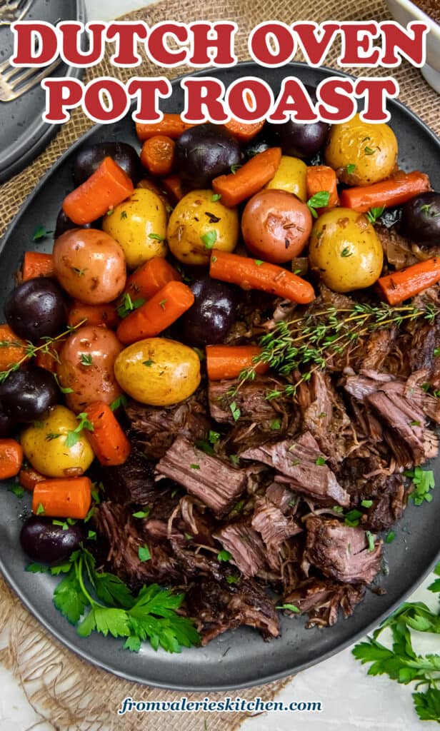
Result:
<svg viewBox="0 0 440 731"><path fill-rule="evenodd" d="M201 72L209 74L208 71ZM238 77L254 75L264 78L276 92L284 75L297 75L304 83L316 86L323 78L334 75L328 69L311 69L303 64L291 64L284 69L261 69L255 64L240 64L232 69L216 69L216 76L225 86ZM173 82L173 94L162 102L165 112L183 107L183 93L178 80ZM399 102L390 102L391 125L399 142L399 162L404 170L423 170L430 175L434 187L440 189L440 140L425 124ZM75 152L84 144L104 140L123 140L135 148L140 145L134 134L134 124L127 116L117 124L95 126L64 154L39 183L23 205L0 245L2 288L0 307L12 288L12 277L23 251L37 248L32 234L39 224L49 230L64 195L72 189L72 164ZM51 242L38 246L50 251ZM433 463L436 482L440 484L440 458ZM357 637L368 632L390 613L433 567L440 553L440 498L434 491L433 502L422 507L409 505L403 520L395 528L397 537L386 545L387 570L379 584L386 590L383 596L367 593L354 616L338 621L328 629L305 629L305 618L282 619L282 636L269 643L251 629L238 629L214 640L205 648L191 648L179 655L154 652L148 645L139 654L122 651L120 640L92 635L83 640L75 628L61 617L53 606L52 595L56 580L47 575L26 573L29 559L20 550L19 533L23 515L29 513L29 499L18 500L7 491L0 491L0 569L8 582L39 621L89 662L116 675L140 683L170 689L224 690L267 683L296 673L340 651Z"/></svg>

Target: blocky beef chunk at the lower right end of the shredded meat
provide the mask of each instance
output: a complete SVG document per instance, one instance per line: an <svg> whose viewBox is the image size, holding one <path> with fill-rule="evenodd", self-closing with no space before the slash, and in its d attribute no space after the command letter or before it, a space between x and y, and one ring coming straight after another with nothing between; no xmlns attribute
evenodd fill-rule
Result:
<svg viewBox="0 0 440 731"><path fill-rule="evenodd" d="M369 550L365 531L344 526L339 520L308 518L306 528L305 564L347 584L371 583L380 569L382 541Z"/></svg>

